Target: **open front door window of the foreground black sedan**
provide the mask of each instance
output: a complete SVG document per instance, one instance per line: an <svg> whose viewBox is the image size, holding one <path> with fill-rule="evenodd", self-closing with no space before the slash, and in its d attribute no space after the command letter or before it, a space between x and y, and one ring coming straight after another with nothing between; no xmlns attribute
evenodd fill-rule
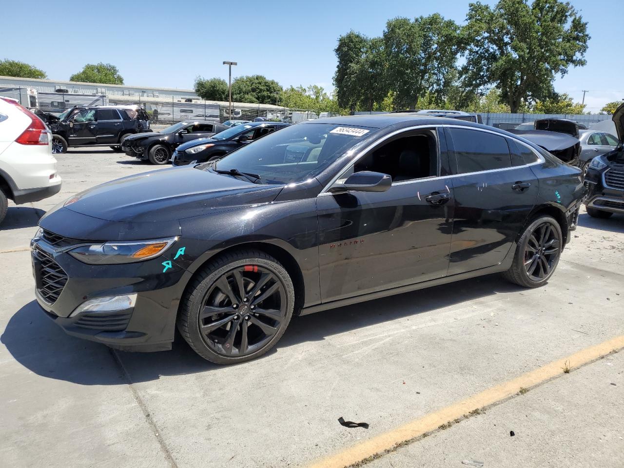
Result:
<svg viewBox="0 0 624 468"><path fill-rule="evenodd" d="M412 134L375 149L356 162L353 172L370 170L402 182L438 175L437 139L433 130Z"/></svg>

